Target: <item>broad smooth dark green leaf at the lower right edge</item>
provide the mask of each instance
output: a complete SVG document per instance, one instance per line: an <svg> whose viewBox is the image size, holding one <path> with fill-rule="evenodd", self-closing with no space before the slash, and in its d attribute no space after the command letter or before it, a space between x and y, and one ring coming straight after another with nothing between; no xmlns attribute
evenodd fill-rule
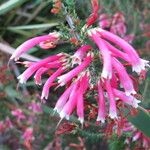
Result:
<svg viewBox="0 0 150 150"><path fill-rule="evenodd" d="M139 108L136 116L129 116L128 120L146 136L150 137L150 114Z"/></svg>

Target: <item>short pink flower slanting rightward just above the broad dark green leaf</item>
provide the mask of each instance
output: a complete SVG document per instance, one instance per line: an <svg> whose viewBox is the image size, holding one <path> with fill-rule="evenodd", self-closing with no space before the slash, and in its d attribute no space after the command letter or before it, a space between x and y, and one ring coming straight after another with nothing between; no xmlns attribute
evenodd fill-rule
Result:
<svg viewBox="0 0 150 150"><path fill-rule="evenodd" d="M123 102L133 106L134 108L138 107L138 103L140 103L139 100L137 100L135 97L133 97L132 95L127 96L124 92L119 91L117 89L113 89L114 95L115 97L119 98L120 100L122 100Z"/></svg>

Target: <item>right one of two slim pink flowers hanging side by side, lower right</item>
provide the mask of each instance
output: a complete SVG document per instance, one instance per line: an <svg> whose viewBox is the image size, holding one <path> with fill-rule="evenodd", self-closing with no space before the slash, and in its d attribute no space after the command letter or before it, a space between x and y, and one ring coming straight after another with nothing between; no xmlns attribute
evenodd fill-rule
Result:
<svg viewBox="0 0 150 150"><path fill-rule="evenodd" d="M116 108L116 100L113 94L113 89L110 85L110 81L105 81L106 90L109 98L109 116L112 119L117 118L117 108Z"/></svg>

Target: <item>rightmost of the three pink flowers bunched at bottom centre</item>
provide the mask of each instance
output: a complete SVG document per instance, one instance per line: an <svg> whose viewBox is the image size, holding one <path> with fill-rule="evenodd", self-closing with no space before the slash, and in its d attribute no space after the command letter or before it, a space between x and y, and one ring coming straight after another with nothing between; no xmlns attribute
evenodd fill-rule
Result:
<svg viewBox="0 0 150 150"><path fill-rule="evenodd" d="M81 77L78 89L78 100L77 100L77 115L78 120L81 124L84 122L84 98L83 95L89 87L89 75L86 73L83 77Z"/></svg>

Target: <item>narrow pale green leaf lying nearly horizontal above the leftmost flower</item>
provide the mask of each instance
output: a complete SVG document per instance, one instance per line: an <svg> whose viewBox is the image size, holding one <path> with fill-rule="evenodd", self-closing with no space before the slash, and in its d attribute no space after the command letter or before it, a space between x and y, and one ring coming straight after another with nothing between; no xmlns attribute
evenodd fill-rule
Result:
<svg viewBox="0 0 150 150"><path fill-rule="evenodd" d="M51 28L57 26L58 23L45 23L45 24L33 24L33 25L25 25L25 26L15 26L15 27L8 27L8 30L32 30L32 29L40 29L40 28Z"/></svg>

